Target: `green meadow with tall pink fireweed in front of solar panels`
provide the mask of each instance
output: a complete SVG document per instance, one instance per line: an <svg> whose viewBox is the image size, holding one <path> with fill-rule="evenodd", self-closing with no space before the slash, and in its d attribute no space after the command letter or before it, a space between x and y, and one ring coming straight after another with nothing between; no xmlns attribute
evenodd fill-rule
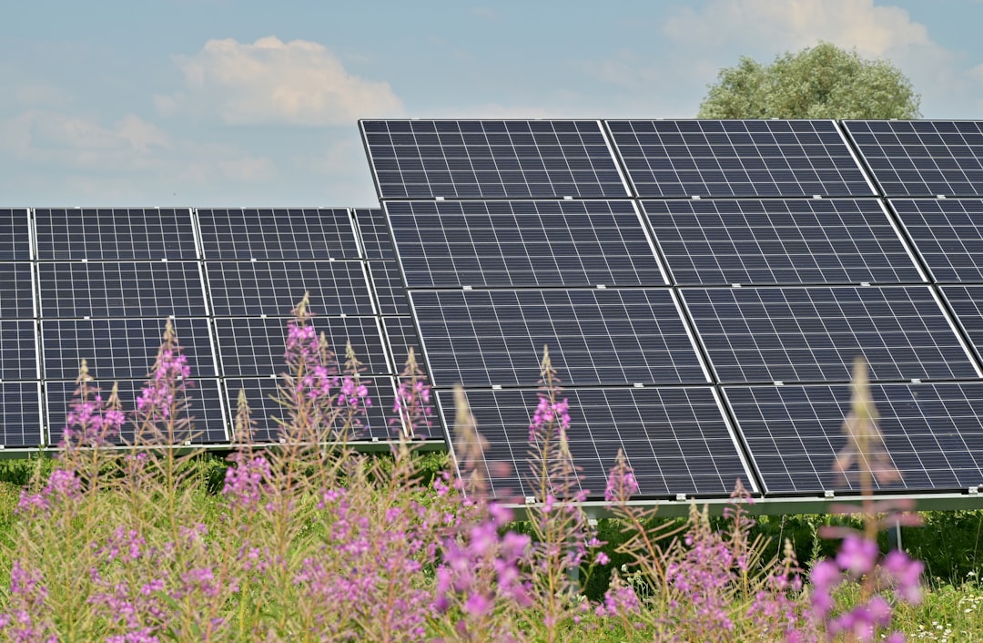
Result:
<svg viewBox="0 0 983 643"><path fill-rule="evenodd" d="M632 504L620 457L596 490L614 518L589 520L548 354L524 472L536 498L521 523L488 493L462 392L454 474L408 438L432 414L412 353L384 456L349 445L369 382L350 348L338 360L318 337L306 300L285 356L283 440L253 441L240 396L225 462L172 448L193 435L194 388L169 325L132 411L94 389L84 364L57 458L2 472L0 640L983 640L977 558L937 556L926 574L878 544L888 521L916 520L904 505L754 518L738 486L721 518L694 504L662 519ZM861 482L895 476L878 458L862 369L854 388L839 466ZM124 426L135 438L118 448ZM928 521L971 534L981 516ZM966 537L974 556L979 537Z"/></svg>

